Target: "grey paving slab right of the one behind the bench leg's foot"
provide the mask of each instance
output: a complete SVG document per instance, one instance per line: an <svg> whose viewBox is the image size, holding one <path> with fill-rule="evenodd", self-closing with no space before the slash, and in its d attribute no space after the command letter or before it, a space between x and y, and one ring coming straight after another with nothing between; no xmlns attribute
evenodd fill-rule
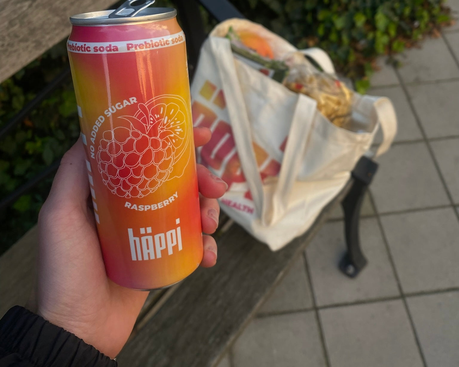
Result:
<svg viewBox="0 0 459 367"><path fill-rule="evenodd" d="M381 217L404 293L459 286L459 222L452 207Z"/></svg>

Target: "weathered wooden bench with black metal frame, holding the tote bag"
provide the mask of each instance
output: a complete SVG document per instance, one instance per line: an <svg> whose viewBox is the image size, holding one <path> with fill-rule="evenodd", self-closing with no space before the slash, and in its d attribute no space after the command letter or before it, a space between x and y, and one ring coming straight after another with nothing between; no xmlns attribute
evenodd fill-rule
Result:
<svg viewBox="0 0 459 367"><path fill-rule="evenodd" d="M242 17L226 0L199 2L218 21ZM39 0L27 6L21 2L0 0L0 3L4 3L0 8L0 33L5 39L0 44L0 80L5 80L69 33L68 16L104 9L112 1ZM56 10L52 14L46 11L51 3ZM192 0L177 0L175 4L186 35L192 74L205 39L200 10ZM65 73L45 87L41 98L61 82L58 78L65 79ZM38 102L29 104L19 116L7 122L6 128L0 131L0 139ZM128 343L118 356L120 366L215 366L339 203L345 213L348 248L339 266L347 276L355 277L366 264L358 240L359 212L376 169L373 161L362 157L352 179L325 207L313 226L275 253L222 214L215 234L217 265L211 269L200 268L183 282L150 293ZM5 210L38 181L39 178L34 178L3 198L0 210ZM37 228L34 227L0 257L0 316L13 305L23 305L28 298L34 284L36 242Z"/></svg>

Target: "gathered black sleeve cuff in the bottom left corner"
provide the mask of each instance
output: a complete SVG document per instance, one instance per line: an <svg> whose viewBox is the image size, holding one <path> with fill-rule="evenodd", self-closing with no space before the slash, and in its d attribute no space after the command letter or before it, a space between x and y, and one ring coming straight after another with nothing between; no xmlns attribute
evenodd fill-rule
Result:
<svg viewBox="0 0 459 367"><path fill-rule="evenodd" d="M116 367L74 334L20 306L0 320L0 367Z"/></svg>

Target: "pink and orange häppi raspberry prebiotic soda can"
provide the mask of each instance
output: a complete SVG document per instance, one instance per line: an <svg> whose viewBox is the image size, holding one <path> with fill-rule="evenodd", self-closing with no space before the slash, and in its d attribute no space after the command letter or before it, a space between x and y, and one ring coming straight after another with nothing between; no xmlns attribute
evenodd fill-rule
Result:
<svg viewBox="0 0 459 367"><path fill-rule="evenodd" d="M67 50L107 276L150 290L203 246L185 36L174 9L132 2L71 17Z"/></svg>

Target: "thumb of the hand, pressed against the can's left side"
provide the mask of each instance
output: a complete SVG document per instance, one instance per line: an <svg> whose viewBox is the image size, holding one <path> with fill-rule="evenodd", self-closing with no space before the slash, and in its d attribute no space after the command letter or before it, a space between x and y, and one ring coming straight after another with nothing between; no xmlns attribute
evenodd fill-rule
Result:
<svg viewBox="0 0 459 367"><path fill-rule="evenodd" d="M85 207L90 192L89 173L84 146L79 138L62 157L47 201Z"/></svg>

